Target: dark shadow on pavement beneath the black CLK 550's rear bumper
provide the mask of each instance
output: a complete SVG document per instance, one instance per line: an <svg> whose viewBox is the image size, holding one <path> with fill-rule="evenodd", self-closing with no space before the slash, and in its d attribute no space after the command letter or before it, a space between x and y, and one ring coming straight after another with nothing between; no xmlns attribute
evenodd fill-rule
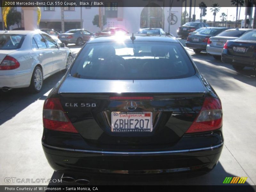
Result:
<svg viewBox="0 0 256 192"><path fill-rule="evenodd" d="M113 176L110 174L101 176L92 176L85 174L83 178L90 178L90 185L231 185L223 184L226 177L243 177L244 175L232 175L227 173L222 165L218 163L215 168L204 175L197 176L194 174L173 174L173 175L155 175L155 176L127 176L118 175ZM179 178L179 179L177 179ZM53 172L52 180L60 180L61 174ZM52 185L79 185L75 182L62 182L62 183L49 183ZM235 184L234 184L235 185ZM240 184L241 185L241 184ZM246 181L243 185L249 185Z"/></svg>

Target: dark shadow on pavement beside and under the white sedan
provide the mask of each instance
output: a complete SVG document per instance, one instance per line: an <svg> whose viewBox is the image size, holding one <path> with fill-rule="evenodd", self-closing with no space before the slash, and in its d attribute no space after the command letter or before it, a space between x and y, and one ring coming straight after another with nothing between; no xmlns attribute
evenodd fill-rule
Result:
<svg viewBox="0 0 256 192"><path fill-rule="evenodd" d="M0 90L0 125L8 121L36 100L45 100L52 87L65 75L66 70L60 71L44 80L42 91L30 93L28 88L12 89L9 92ZM12 110L8 110L12 108ZM6 111L8 112L6 113Z"/></svg>

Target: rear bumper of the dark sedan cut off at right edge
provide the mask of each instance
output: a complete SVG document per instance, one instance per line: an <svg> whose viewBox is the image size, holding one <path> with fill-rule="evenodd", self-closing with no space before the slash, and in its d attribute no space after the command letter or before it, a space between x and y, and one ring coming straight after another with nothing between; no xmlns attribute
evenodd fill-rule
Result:
<svg viewBox="0 0 256 192"><path fill-rule="evenodd" d="M238 65L243 67L256 67L255 58L253 59L253 58L237 57L237 56L231 56L231 55L222 53L221 61L225 63L229 63L231 65Z"/></svg>

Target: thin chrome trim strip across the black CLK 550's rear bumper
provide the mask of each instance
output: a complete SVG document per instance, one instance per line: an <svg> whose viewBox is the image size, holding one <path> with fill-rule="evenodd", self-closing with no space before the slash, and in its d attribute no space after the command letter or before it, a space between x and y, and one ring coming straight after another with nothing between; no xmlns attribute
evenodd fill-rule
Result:
<svg viewBox="0 0 256 192"><path fill-rule="evenodd" d="M195 151L204 151L204 150L213 150L220 148L224 142L220 143L219 145L205 147L205 148L196 148L196 149L182 149L182 150L173 150L173 151L145 151L145 152L122 152L122 151L94 151L94 150L82 150L82 149L68 149L68 148L60 148L60 147L53 147L47 145L42 142L42 145L48 148L65 150L65 151L76 151L76 152L85 152L85 153L98 153L98 154L123 154L123 155L145 155L145 154L168 154L168 153L187 153L187 152L195 152Z"/></svg>

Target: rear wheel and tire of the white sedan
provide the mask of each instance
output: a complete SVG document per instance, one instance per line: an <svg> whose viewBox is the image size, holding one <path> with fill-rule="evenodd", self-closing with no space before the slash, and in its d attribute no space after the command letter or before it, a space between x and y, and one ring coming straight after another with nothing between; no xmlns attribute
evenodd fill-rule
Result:
<svg viewBox="0 0 256 192"><path fill-rule="evenodd" d="M29 90L32 93L38 93L42 90L43 87L43 72L42 69L40 67L35 67L33 73L32 73L32 77L31 77L31 81L30 81L30 86L29 86Z"/></svg>

